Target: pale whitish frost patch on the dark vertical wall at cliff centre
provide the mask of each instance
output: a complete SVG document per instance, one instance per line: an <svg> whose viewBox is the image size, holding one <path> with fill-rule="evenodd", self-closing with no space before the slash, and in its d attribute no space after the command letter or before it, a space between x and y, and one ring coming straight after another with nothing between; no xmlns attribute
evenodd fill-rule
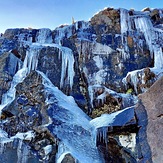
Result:
<svg viewBox="0 0 163 163"><path fill-rule="evenodd" d="M83 67L83 71L87 77L88 84L105 84L107 76L107 68L103 66L103 59L108 57L108 55L113 53L113 49L107 45L100 43L92 43L85 41L81 43L81 46L78 46L78 53L82 54L83 62L86 62L88 59L93 59L98 70L94 73L88 73L87 67ZM91 58L93 56L93 58ZM81 56L79 56L80 58Z"/></svg>

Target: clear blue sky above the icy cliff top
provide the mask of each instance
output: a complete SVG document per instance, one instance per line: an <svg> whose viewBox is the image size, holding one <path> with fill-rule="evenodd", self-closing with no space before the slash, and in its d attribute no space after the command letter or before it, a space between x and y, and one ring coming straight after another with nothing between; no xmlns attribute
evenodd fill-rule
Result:
<svg viewBox="0 0 163 163"><path fill-rule="evenodd" d="M89 20L105 7L163 8L162 0L0 0L0 32L7 28L50 28Z"/></svg>

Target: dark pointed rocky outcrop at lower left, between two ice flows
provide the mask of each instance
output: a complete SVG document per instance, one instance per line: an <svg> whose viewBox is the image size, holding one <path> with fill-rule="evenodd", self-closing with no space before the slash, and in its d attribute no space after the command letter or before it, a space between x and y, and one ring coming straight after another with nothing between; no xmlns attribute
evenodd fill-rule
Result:
<svg viewBox="0 0 163 163"><path fill-rule="evenodd" d="M2 110L1 117L5 121L1 123L1 126L10 139L13 137L13 141L15 141L17 138L18 141L23 141L29 146L33 154L37 152L39 159L54 161L58 146L57 138L51 135L46 127L43 127L49 123L45 100L42 77L38 73L32 72L16 86L15 100ZM28 134L28 131L31 134ZM22 134L23 140L20 140L19 133ZM4 148L5 146L6 144L4 144ZM14 148L12 144L10 147ZM48 147L51 149L49 153L46 151ZM22 155L22 157L24 156Z"/></svg>

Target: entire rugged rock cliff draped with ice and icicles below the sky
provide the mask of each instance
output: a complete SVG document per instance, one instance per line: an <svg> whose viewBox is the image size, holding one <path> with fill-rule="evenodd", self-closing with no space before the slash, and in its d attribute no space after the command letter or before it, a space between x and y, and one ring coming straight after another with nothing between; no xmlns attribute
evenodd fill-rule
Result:
<svg viewBox="0 0 163 163"><path fill-rule="evenodd" d="M161 161L162 24L161 9L107 8L53 31L7 29L0 157L7 146L19 162Z"/></svg>

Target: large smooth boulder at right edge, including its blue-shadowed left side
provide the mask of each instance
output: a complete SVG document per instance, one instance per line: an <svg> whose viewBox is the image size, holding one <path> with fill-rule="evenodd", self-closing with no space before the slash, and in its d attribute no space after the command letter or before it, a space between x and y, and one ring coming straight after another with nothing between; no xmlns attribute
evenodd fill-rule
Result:
<svg viewBox="0 0 163 163"><path fill-rule="evenodd" d="M163 143L161 138L163 122L162 84L163 78L153 84L146 93L141 94L139 96L141 103L136 108L138 120L141 122L139 127L142 128L139 132L139 141L141 141L141 149L143 152L142 155L143 157L147 157L148 161L152 160L155 163L159 163L163 160L161 145ZM144 135L141 134L142 132L144 132ZM145 141L148 145L143 143ZM149 150L151 151L151 154L147 155L147 151Z"/></svg>

